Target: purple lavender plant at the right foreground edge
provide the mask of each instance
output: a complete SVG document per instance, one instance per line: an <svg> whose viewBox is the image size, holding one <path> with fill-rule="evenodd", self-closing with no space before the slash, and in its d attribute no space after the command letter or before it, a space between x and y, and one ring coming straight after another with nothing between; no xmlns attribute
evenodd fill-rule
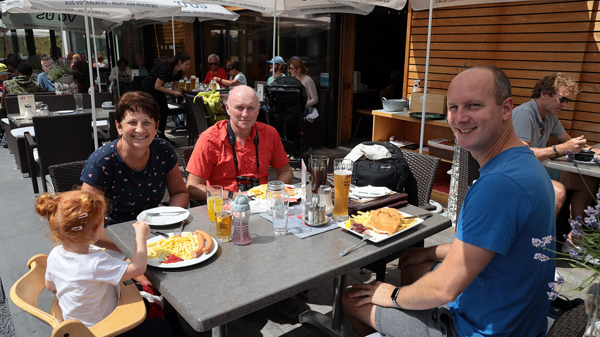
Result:
<svg viewBox="0 0 600 337"><path fill-rule="evenodd" d="M571 151L566 151L566 156L577 167L577 162L573 161L575 154ZM597 157L593 158L593 162L600 167L600 160ZM577 168L577 171L581 176L579 168ZM586 185L586 187L590 191L589 186ZM591 191L590 194L593 195ZM586 303L586 311L589 316L586 336L598 337L600 336L600 286L596 281L600 278L600 204L598 203L598 200L600 200L600 188L593 195L593 199L595 206L587 207L585 210L586 218L582 219L581 216L577 216L569 220L569 224L571 225L571 239L566 238L565 240L565 245L569 247L566 249L568 252L552 252L556 253L556 260L568 261L575 270L584 268L592 272L588 278L575 285L573 291L580 292L588 289L588 292L591 294L589 296L591 299L590 302ZM548 245L553 240L562 243L556 237L547 236L532 238L532 244L537 248L551 251ZM536 253L533 258L542 262L550 260L550 257L541 252ZM562 276L548 284L550 291L547 293L551 300L559 296L558 292L563 287L563 284L565 284L565 279ZM591 333L592 326L593 333Z"/></svg>

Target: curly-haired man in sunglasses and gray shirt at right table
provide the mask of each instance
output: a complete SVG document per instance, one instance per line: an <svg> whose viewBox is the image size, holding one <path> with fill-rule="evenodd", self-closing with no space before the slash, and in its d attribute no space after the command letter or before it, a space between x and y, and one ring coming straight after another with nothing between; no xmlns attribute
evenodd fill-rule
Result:
<svg viewBox="0 0 600 337"><path fill-rule="evenodd" d="M556 73L539 80L533 88L532 100L512 110L512 125L517 136L533 150L540 161L565 155L565 151L578 153L590 149L584 136L571 137L560 124L558 113L571 101L571 95L578 92L577 83L563 73ZM548 139L554 137L558 144L548 146ZM593 151L600 150L593 149ZM556 214L563 206L566 190L571 194L571 216L585 216L584 209L591 204L592 195L587 191L577 173L546 169L554 185ZM587 186L598 186L598 179L584 176ZM561 225L562 226L562 225Z"/></svg>

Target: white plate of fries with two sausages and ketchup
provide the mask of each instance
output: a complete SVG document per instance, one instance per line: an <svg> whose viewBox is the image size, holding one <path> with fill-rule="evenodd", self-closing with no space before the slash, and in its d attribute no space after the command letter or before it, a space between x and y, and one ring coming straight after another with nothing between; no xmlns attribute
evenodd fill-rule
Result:
<svg viewBox="0 0 600 337"><path fill-rule="evenodd" d="M198 248L198 237L191 231L184 231L181 237L174 237L173 233L167 233L169 239L164 236L154 236L146 241L148 246L148 266L159 268L180 268L192 266L202 261L208 260L217 252L218 243L214 237L212 239L212 249L208 253L200 254L196 258L191 257L191 253ZM167 261L169 255L175 254L183 261L173 263L161 263Z"/></svg>

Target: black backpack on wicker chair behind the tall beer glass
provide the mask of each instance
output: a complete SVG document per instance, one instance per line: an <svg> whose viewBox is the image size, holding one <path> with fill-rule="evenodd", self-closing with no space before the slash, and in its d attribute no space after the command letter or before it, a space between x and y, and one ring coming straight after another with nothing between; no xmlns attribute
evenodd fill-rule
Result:
<svg viewBox="0 0 600 337"><path fill-rule="evenodd" d="M382 160L357 160L352 167L352 183L356 186L386 186L392 191L404 192L412 176L402 151L392 143L362 142L363 145L381 145L392 154Z"/></svg>

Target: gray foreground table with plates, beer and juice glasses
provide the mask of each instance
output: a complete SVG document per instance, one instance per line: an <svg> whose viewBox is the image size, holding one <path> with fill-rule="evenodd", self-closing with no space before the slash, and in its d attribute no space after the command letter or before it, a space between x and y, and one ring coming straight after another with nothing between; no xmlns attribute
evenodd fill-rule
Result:
<svg viewBox="0 0 600 337"><path fill-rule="evenodd" d="M409 214L423 212L410 205L400 210ZM217 237L215 227L209 226L206 206L190 209L187 220L189 223L184 231L200 229ZM107 228L107 235L128 257L134 250L133 222ZM178 225L152 228L170 233ZM341 295L346 273L450 226L449 218L434 215L404 233L379 243L367 241L340 257L340 252L358 243L360 237L342 228L305 239L289 233L275 236L272 223L253 214L249 226L250 245L219 243L215 255L202 263L178 269L148 266L145 275L194 330L212 329L212 336L226 336L229 321L334 279L334 318L329 319L318 312L304 312L300 321L321 325L319 327L328 330L332 336L355 336L344 331L342 325Z"/></svg>

